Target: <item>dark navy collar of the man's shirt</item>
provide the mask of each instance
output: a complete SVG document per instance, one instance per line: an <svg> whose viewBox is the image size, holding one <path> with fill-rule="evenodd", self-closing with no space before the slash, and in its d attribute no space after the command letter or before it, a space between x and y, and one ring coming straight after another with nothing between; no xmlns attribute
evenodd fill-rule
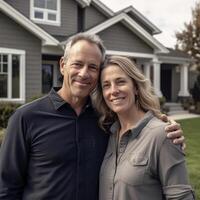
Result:
<svg viewBox="0 0 200 200"><path fill-rule="evenodd" d="M64 104L68 104L57 92L60 90L60 87L53 87L51 91L49 92L49 98L51 99L54 108L58 110L60 107L62 107ZM69 105L69 104L68 104ZM91 99L88 98L86 105L83 109L86 109L92 105Z"/></svg>

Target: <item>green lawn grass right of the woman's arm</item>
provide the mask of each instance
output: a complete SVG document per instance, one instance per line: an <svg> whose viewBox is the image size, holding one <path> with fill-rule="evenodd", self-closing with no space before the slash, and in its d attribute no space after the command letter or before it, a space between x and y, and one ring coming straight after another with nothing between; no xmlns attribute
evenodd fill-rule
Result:
<svg viewBox="0 0 200 200"><path fill-rule="evenodd" d="M178 121L186 138L186 160L190 182L200 200L200 118Z"/></svg>

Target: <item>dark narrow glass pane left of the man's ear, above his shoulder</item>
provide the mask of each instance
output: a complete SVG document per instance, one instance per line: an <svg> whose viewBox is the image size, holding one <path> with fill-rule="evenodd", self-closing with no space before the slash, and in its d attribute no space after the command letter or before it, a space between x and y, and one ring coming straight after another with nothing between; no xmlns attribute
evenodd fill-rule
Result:
<svg viewBox="0 0 200 200"><path fill-rule="evenodd" d="M42 93L48 93L53 86L53 65L42 65Z"/></svg>

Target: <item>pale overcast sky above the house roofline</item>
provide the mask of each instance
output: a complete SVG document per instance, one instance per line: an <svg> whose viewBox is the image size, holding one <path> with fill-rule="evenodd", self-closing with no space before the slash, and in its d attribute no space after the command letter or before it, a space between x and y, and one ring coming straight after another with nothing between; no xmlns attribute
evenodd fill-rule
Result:
<svg viewBox="0 0 200 200"><path fill-rule="evenodd" d="M132 5L149 21L156 25L161 34L155 38L166 47L176 44L175 33L184 29L184 23L191 21L192 9L198 0L101 0L113 11ZM200 1L200 0L199 0Z"/></svg>

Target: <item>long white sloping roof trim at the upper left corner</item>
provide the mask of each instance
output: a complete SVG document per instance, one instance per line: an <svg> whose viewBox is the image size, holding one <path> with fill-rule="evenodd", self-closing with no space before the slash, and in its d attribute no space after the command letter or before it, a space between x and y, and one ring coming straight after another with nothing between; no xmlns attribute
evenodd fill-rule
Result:
<svg viewBox="0 0 200 200"><path fill-rule="evenodd" d="M56 40L46 31L41 29L39 26L34 24L31 20L26 18L24 15L22 15L20 12L18 12L16 9L14 9L3 0L0 0L0 11L5 13L8 17L12 18L15 22L23 26L36 37L40 38L43 45L58 46L58 40Z"/></svg>

